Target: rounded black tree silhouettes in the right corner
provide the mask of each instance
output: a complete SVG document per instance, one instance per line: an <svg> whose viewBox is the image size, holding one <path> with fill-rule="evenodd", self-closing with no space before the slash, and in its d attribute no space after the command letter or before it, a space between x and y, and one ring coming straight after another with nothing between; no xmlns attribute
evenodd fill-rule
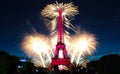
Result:
<svg viewBox="0 0 120 74"><path fill-rule="evenodd" d="M120 56L105 55L98 61L91 61L87 65L88 74L120 74Z"/></svg>

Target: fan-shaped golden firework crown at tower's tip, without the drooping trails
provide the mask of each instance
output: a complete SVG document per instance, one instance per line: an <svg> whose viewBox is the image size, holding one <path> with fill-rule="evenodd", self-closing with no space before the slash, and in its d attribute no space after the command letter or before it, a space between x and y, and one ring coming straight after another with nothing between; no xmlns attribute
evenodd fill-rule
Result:
<svg viewBox="0 0 120 74"><path fill-rule="evenodd" d="M47 5L42 10L41 14L48 18L55 18L59 16L58 10L60 9L63 11L63 16L73 17L78 13L77 7L74 6L72 2L67 4L56 2L54 4Z"/></svg>

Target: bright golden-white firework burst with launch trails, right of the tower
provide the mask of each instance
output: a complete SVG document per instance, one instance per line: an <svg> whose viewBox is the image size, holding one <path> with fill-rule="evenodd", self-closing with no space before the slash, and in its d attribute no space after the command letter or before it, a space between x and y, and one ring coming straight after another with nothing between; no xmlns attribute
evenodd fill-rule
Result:
<svg viewBox="0 0 120 74"><path fill-rule="evenodd" d="M73 36L73 42L71 44L71 49L73 52L71 54L71 62L76 60L76 64L79 63L79 60L82 56L89 54L91 55L92 52L96 49L97 41L93 34L89 33L78 33ZM77 58L77 59L75 59Z"/></svg>

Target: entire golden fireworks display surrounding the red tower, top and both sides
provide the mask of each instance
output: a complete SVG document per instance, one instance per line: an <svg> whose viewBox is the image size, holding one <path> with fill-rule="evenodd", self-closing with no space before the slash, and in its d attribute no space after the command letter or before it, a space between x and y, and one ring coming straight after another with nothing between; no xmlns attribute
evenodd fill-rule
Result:
<svg viewBox="0 0 120 74"><path fill-rule="evenodd" d="M48 27L50 27L50 37L42 35L42 34L31 34L26 35L22 42L22 47L29 56L32 56L32 62L36 66L47 67L51 62L51 58L54 57L54 50L56 48L57 43L57 19L58 19L58 10L63 10L63 24L76 32L75 35L70 36L69 32L66 31L64 34L64 41L66 44L66 49L68 51L68 55L70 55L71 62L79 63L79 60L84 55L91 55L95 50L97 41L93 34L80 32L75 30L75 27L70 23L70 18L73 18L74 15L78 13L77 7L75 7L72 3L58 4L57 2L54 4L47 5L41 12L44 17L50 18L48 21Z"/></svg>

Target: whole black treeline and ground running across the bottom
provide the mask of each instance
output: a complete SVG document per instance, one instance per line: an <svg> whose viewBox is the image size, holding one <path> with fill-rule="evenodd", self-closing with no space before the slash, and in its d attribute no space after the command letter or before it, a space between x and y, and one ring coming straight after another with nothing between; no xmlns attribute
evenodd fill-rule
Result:
<svg viewBox="0 0 120 74"><path fill-rule="evenodd" d="M22 65L22 68L18 68ZM20 62L16 56L0 51L0 74L120 74L120 55L110 54L90 61L87 67L75 66L69 71L49 71L31 62Z"/></svg>

